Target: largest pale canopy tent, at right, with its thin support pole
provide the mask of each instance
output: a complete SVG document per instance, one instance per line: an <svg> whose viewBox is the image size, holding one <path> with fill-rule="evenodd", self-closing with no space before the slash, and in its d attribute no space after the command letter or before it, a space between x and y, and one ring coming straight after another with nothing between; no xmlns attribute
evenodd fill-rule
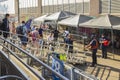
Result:
<svg viewBox="0 0 120 80"><path fill-rule="evenodd" d="M89 20L88 22L79 24L82 27L89 27L89 28L99 28L99 29L111 29L111 40L113 43L113 29L114 26L120 24L120 17L113 16L113 15L102 15L95 19ZM114 47L112 46L112 53L114 53ZM114 56L113 56L114 58Z"/></svg>

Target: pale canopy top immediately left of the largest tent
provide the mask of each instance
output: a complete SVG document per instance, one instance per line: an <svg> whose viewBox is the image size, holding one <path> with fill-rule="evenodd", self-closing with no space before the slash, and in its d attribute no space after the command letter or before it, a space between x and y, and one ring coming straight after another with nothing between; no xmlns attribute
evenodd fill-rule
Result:
<svg viewBox="0 0 120 80"><path fill-rule="evenodd" d="M72 27L78 27L80 23L86 22L90 19L92 19L92 17L90 17L90 16L75 15L75 16L71 16L69 18L59 21L58 24L72 26Z"/></svg>

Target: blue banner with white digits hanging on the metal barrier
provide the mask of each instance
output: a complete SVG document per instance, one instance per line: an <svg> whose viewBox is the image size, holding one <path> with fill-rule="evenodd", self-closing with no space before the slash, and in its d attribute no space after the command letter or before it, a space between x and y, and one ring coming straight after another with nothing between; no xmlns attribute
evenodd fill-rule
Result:
<svg viewBox="0 0 120 80"><path fill-rule="evenodd" d="M64 63L56 57L52 58L52 68L60 74L64 74ZM52 74L53 80L60 80L55 74Z"/></svg>

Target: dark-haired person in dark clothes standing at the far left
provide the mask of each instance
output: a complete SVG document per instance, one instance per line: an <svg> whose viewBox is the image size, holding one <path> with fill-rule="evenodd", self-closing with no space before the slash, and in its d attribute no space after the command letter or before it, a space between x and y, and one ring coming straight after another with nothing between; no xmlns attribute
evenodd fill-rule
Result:
<svg viewBox="0 0 120 80"><path fill-rule="evenodd" d="M9 14L6 14L5 15L5 18L3 19L3 23L2 23L2 26L4 27L3 28L3 31L5 31L3 33L3 37L4 38L7 38L8 35L9 35L9 32L10 32L10 29L9 29L9 18L10 18L10 15ZM7 33L6 33L7 32Z"/></svg>

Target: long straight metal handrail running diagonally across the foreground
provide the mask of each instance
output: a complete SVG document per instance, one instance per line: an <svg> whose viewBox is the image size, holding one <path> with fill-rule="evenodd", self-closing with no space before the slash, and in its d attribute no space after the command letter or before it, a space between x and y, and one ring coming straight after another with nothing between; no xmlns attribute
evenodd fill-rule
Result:
<svg viewBox="0 0 120 80"><path fill-rule="evenodd" d="M38 62L39 64L41 64L43 67L47 68L48 70L52 71L55 75L57 75L58 77L60 77L63 80L69 80L68 78L66 78L65 76L59 74L58 72L56 72L55 70L53 70L50 66L48 66L47 64L43 63L41 60L39 60L38 58L34 57L33 55L29 54L27 51L19 48L18 46L16 46L15 44L11 43L10 41L0 37L0 39L6 41L7 43L11 44L12 46L16 47L17 49L19 49L20 51L24 52L27 56L31 57L32 59L34 59L36 62Z"/></svg>

